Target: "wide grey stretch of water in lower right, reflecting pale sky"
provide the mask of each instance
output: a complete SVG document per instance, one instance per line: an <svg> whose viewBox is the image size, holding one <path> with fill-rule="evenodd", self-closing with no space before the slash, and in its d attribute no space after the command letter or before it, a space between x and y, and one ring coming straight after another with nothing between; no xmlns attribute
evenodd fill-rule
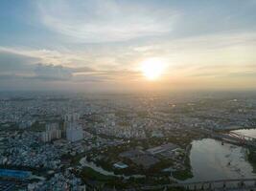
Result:
<svg viewBox="0 0 256 191"><path fill-rule="evenodd" d="M194 178L186 181L256 178L246 149L212 138L194 140L190 154Z"/></svg>

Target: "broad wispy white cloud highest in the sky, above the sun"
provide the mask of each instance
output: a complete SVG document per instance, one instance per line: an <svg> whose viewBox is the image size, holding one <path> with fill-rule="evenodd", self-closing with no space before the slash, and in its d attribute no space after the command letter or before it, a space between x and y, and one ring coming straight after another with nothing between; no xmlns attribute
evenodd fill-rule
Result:
<svg viewBox="0 0 256 191"><path fill-rule="evenodd" d="M137 1L38 2L42 23L79 42L126 41L171 32L177 12Z"/></svg>

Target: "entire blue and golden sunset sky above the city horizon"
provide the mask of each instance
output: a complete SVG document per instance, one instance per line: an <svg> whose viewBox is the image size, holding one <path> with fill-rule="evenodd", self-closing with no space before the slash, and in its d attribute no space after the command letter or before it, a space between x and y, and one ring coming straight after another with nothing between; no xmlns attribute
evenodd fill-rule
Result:
<svg viewBox="0 0 256 191"><path fill-rule="evenodd" d="M0 1L0 91L176 89L256 90L255 0Z"/></svg>

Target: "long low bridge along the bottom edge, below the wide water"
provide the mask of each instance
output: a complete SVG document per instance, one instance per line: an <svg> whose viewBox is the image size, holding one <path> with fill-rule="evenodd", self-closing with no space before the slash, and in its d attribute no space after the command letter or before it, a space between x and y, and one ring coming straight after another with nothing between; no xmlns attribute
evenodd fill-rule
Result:
<svg viewBox="0 0 256 191"><path fill-rule="evenodd" d="M183 187L186 190L256 190L256 179L206 180L198 182L180 182L156 186L145 186L141 190L168 190Z"/></svg>

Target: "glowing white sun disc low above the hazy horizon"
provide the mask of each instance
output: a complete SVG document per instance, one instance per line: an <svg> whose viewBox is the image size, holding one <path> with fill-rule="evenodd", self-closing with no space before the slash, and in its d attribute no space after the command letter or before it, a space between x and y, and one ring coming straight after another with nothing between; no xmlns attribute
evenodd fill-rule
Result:
<svg viewBox="0 0 256 191"><path fill-rule="evenodd" d="M158 79L165 70L165 64L157 58L150 58L141 63L141 72L150 80Z"/></svg>

